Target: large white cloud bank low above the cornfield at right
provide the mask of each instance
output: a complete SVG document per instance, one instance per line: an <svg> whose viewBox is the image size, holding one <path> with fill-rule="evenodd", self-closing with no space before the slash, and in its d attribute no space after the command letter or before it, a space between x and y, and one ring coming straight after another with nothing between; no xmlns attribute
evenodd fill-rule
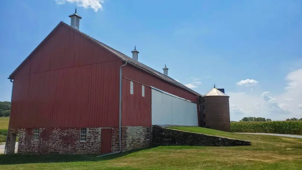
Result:
<svg viewBox="0 0 302 170"><path fill-rule="evenodd" d="M302 69L289 73L285 80L288 82L286 90L279 94L272 95L269 91L261 92L258 88L254 91L246 89L245 92L240 93L229 92L231 120L240 120L246 116L265 117L272 120L301 118Z"/></svg>

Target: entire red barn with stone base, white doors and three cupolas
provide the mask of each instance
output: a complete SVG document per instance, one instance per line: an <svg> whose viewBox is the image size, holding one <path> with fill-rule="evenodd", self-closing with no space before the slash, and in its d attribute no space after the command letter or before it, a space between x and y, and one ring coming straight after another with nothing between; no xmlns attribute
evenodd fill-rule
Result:
<svg viewBox="0 0 302 170"><path fill-rule="evenodd" d="M200 94L60 22L9 76L6 153L110 153L146 147L152 125L203 125Z"/></svg>

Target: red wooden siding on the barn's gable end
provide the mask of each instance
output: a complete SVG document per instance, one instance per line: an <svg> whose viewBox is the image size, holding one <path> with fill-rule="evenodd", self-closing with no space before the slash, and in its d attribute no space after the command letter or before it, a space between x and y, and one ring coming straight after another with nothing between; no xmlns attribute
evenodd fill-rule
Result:
<svg viewBox="0 0 302 170"><path fill-rule="evenodd" d="M9 128L117 127L120 65L59 25L14 75Z"/></svg>

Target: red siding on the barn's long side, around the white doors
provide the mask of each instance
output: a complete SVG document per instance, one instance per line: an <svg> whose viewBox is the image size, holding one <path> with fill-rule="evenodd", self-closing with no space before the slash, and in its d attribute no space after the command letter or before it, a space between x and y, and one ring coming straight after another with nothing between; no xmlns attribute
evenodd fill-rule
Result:
<svg viewBox="0 0 302 170"><path fill-rule="evenodd" d="M198 103L197 95L190 93L180 87L174 86L152 74L140 70L130 64L123 67L123 77L153 86L160 90ZM123 126L150 126L151 125L151 88L145 87L145 97L141 97L141 85L134 83L134 94L130 94L130 80L123 79ZM137 93L137 94L135 94ZM137 96L136 96L137 95ZM142 104L143 103L143 104ZM132 108L135 108L132 109ZM198 106L197 106L198 109ZM199 119L199 114L198 119ZM142 125L143 124L143 125Z"/></svg>

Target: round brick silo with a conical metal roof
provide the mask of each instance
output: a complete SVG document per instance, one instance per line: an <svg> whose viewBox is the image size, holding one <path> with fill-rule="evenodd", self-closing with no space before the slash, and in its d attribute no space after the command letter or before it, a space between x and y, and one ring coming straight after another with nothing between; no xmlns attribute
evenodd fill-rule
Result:
<svg viewBox="0 0 302 170"><path fill-rule="evenodd" d="M212 90L201 97L203 109L203 127L229 132L230 127L230 104L229 96L224 89Z"/></svg>

